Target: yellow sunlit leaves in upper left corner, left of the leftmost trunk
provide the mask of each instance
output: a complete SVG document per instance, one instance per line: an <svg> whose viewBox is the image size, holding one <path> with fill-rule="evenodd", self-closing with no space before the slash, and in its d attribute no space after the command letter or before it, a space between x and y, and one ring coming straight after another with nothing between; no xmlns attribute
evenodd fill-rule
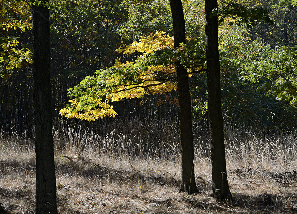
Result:
<svg viewBox="0 0 297 214"><path fill-rule="evenodd" d="M23 1L0 2L0 77L4 82L21 67L32 64L32 52L13 32L31 30L30 7Z"/></svg>

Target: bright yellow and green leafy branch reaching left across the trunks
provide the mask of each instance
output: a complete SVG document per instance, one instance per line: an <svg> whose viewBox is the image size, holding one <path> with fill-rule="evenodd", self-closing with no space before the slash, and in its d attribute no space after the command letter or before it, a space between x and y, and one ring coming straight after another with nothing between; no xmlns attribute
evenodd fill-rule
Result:
<svg viewBox="0 0 297 214"><path fill-rule="evenodd" d="M194 44L194 39L191 44ZM114 117L116 112L112 102L175 90L174 62L177 59L184 59L180 61L185 65L194 60L200 63L196 69L188 66L191 68L189 75L204 69L201 62L205 62L205 54L203 49L200 50L203 43L198 40L196 44L197 47L192 46L191 52L187 45L174 50L173 37L158 31L130 45L122 44L117 51L127 55L136 54L137 59L122 63L118 58L114 66L97 70L96 76L87 76L79 85L69 89L69 95L75 99L60 113L68 118L88 121L105 116Z"/></svg>

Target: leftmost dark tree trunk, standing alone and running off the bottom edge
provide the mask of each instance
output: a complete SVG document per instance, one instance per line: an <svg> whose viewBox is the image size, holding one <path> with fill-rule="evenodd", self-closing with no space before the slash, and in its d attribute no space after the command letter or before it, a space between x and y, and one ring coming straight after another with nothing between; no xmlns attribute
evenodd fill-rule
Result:
<svg viewBox="0 0 297 214"><path fill-rule="evenodd" d="M58 213L50 93L49 9L32 5L36 213Z"/></svg>

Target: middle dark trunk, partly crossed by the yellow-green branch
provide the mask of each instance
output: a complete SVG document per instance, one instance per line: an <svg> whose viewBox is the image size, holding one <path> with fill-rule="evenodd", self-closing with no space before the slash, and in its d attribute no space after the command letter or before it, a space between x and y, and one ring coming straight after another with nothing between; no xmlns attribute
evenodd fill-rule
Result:
<svg viewBox="0 0 297 214"><path fill-rule="evenodd" d="M174 48L185 42L186 30L181 0L170 0L170 7L173 18ZM192 130L192 107L189 91L189 80L187 69L175 63L177 76L177 93L179 99L179 129L182 151L182 181L180 191L189 194L198 192L194 173L194 145Z"/></svg>

